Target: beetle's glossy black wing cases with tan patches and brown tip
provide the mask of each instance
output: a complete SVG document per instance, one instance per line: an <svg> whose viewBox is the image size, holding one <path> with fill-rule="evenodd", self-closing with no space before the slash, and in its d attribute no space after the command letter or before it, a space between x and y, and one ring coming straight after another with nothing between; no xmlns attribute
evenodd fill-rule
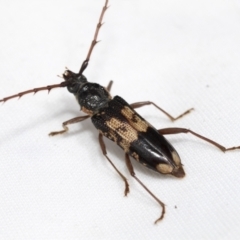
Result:
<svg viewBox="0 0 240 240"><path fill-rule="evenodd" d="M185 175L173 146L125 100L116 96L92 116L94 126L146 167L176 177Z"/></svg>

